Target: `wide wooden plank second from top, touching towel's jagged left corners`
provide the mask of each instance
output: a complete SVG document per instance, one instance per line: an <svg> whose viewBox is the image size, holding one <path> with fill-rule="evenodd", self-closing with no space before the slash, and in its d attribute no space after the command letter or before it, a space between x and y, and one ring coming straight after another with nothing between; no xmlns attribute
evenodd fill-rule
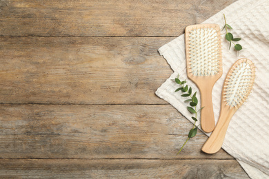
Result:
<svg viewBox="0 0 269 179"><path fill-rule="evenodd" d="M166 104L174 38L0 37L0 103Z"/></svg>

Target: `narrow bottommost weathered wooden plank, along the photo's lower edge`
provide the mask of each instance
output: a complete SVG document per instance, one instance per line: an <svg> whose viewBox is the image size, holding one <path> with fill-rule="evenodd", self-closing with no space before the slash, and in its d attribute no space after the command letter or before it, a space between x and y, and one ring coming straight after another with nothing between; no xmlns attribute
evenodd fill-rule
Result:
<svg viewBox="0 0 269 179"><path fill-rule="evenodd" d="M248 178L236 160L0 160L1 178Z"/></svg>

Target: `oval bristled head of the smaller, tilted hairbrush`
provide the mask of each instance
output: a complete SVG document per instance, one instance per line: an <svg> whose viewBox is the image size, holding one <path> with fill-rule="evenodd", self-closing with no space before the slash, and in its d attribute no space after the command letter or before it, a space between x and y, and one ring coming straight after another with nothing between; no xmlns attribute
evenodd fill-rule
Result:
<svg viewBox="0 0 269 179"><path fill-rule="evenodd" d="M239 59L230 68L223 86L223 101L238 109L248 98L255 80L255 66L248 59Z"/></svg>

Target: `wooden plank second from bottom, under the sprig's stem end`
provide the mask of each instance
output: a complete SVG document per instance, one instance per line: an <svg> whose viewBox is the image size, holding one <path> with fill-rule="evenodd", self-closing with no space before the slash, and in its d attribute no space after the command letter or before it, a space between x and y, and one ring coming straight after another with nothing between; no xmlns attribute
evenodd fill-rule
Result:
<svg viewBox="0 0 269 179"><path fill-rule="evenodd" d="M0 158L220 158L170 105L0 105Z"/></svg>

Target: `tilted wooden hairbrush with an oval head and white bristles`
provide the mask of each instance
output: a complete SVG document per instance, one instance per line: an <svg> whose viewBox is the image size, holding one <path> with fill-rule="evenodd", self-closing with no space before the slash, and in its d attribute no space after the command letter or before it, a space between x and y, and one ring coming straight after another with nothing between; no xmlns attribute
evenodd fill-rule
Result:
<svg viewBox="0 0 269 179"><path fill-rule="evenodd" d="M255 80L255 66L248 59L239 59L230 68L223 84L219 121L202 147L207 154L215 154L226 135L230 119L246 101Z"/></svg>

